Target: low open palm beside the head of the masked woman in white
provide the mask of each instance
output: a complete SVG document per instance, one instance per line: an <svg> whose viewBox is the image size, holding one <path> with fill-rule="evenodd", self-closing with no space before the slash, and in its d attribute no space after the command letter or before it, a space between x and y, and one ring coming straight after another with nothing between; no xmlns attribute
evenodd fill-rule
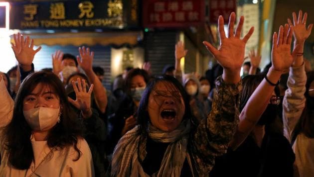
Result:
<svg viewBox="0 0 314 177"><path fill-rule="evenodd" d="M83 117L87 118L90 117L92 114L91 110L91 94L94 88L92 84L89 90L86 90L86 82L78 78L77 79L78 86L76 86L75 82L72 81L72 86L75 91L76 99L73 100L72 98L68 97L68 100L71 104L73 104L77 109L82 111ZM84 116L87 115L87 116Z"/></svg>

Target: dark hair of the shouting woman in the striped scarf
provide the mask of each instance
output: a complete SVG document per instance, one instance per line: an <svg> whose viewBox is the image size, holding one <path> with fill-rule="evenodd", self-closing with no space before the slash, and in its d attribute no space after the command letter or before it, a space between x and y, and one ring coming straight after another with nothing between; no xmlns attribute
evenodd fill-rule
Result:
<svg viewBox="0 0 314 177"><path fill-rule="evenodd" d="M140 126L141 132L144 135L147 135L148 132L148 122L150 121L150 116L148 113L148 104L149 104L149 97L152 91L155 89L155 86L157 83L162 82L163 84L167 85L167 88L170 90L178 90L183 98L185 110L183 114L183 120L190 119L191 118L191 111L190 111L190 104L189 104L189 97L181 85L181 83L175 79L172 76L168 75L161 75L156 76L148 86L146 86L146 89L143 93L143 96L140 101L139 109L138 109L138 117L137 122ZM174 95L173 95L174 96ZM176 95L175 95L176 96Z"/></svg>

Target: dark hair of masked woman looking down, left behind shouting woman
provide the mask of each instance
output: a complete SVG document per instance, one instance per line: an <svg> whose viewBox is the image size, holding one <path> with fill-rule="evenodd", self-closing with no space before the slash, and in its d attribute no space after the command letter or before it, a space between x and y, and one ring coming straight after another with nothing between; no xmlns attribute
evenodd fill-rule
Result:
<svg viewBox="0 0 314 177"><path fill-rule="evenodd" d="M131 95L131 81L132 78L140 75L144 78L145 83L147 84L150 81L150 77L147 71L140 69L140 68L135 68L132 69L131 71L128 72L127 77L125 79L125 92L128 95Z"/></svg>

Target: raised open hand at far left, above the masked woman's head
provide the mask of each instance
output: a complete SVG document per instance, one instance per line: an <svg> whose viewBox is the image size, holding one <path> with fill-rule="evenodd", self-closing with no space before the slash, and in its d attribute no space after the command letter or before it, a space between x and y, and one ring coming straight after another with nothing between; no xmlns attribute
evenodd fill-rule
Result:
<svg viewBox="0 0 314 177"><path fill-rule="evenodd" d="M11 43L11 47L13 49L16 60L21 66L31 66L35 54L41 49L39 46L36 50L34 50L34 40L27 36L23 37L22 34L17 33L13 34L14 43Z"/></svg>

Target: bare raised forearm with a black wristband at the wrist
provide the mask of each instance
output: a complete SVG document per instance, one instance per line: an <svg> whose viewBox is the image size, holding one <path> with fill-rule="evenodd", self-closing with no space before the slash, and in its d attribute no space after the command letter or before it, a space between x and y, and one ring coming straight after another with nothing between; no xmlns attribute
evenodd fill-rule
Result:
<svg viewBox="0 0 314 177"><path fill-rule="evenodd" d="M277 83L281 74L282 72L275 71L271 68L267 73L267 78L272 83ZM266 79L263 79L255 89L240 113L240 122L236 134L229 145L230 148L236 149L253 130L265 111L274 89L275 87L270 85Z"/></svg>

